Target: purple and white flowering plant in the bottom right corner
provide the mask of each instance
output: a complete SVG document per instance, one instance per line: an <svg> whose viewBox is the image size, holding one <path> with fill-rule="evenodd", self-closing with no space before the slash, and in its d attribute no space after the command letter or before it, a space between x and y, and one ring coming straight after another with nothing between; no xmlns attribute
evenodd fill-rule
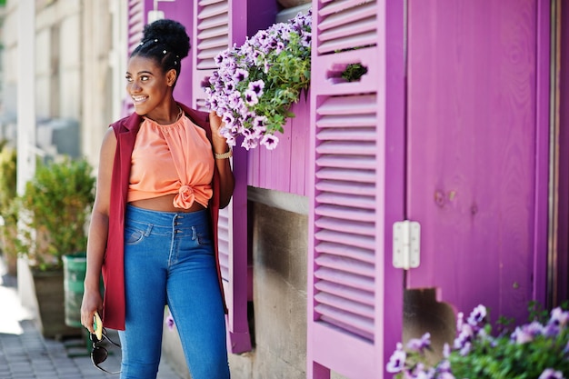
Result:
<svg viewBox="0 0 569 379"><path fill-rule="evenodd" d="M438 364L431 366L424 359L431 344L427 333L411 339L406 349L397 344L386 370L398 379L569 378L568 323L569 312L559 307L543 323L534 318L513 333L504 329L493 336L486 308L478 305L465 321L464 314L458 314L453 347L444 345L443 359Z"/></svg>

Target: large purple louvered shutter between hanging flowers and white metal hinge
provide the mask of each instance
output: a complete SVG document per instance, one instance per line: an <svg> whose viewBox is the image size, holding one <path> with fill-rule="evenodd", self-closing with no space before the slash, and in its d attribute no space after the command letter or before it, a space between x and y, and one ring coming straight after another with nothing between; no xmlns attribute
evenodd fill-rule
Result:
<svg viewBox="0 0 569 379"><path fill-rule="evenodd" d="M401 339L403 2L313 2L307 377L382 378ZM346 50L357 48L357 50ZM344 82L344 67L368 73Z"/></svg>

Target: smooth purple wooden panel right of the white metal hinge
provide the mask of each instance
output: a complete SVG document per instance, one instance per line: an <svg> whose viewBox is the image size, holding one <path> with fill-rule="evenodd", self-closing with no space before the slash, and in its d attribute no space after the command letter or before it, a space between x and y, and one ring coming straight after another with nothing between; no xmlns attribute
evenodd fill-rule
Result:
<svg viewBox="0 0 569 379"><path fill-rule="evenodd" d="M525 318L533 295L535 0L409 2L410 287ZM547 125L541 125L547 127ZM542 152L543 154L544 152Z"/></svg>

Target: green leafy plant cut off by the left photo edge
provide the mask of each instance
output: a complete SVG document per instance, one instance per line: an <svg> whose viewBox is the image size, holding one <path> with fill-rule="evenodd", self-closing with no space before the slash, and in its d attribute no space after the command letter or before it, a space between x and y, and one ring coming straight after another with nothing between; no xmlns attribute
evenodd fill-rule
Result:
<svg viewBox="0 0 569 379"><path fill-rule="evenodd" d="M16 151L5 142L0 143L0 251L8 274L16 274L17 207L16 207Z"/></svg>

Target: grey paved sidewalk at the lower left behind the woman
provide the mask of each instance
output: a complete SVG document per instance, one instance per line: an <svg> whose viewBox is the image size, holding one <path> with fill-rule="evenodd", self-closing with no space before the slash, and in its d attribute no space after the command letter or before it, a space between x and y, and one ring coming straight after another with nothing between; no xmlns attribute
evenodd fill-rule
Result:
<svg viewBox="0 0 569 379"><path fill-rule="evenodd" d="M0 379L118 379L119 375L105 374L93 366L81 339L65 343L45 339L20 304L16 278L5 272L0 257ZM112 338L118 342L117 335ZM102 366L120 370L120 349L109 351ZM181 378L168 364L160 364L158 379Z"/></svg>

